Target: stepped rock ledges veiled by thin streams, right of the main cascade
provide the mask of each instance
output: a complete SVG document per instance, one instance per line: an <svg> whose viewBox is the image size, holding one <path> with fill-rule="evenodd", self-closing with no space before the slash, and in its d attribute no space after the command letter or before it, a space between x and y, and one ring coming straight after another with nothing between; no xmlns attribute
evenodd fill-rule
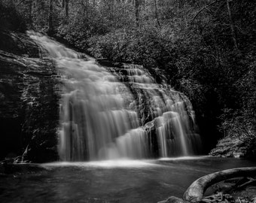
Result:
<svg viewBox="0 0 256 203"><path fill-rule="evenodd" d="M149 157L200 153L202 145L200 135L197 134L194 111L189 99L184 94L172 89L164 82L163 77L154 75L153 78L153 75L142 65L109 62L106 59L97 61L133 93L134 111L138 112L140 126L149 137L148 142L151 145ZM155 83L155 81L159 83ZM172 108L168 107L169 104ZM175 141L177 134L180 135L180 133L176 132L175 123L169 122L173 119L172 111L178 112L182 117L181 125L187 136L187 146L184 148L187 152L182 150L182 144ZM163 140L161 140L162 135L165 137Z"/></svg>

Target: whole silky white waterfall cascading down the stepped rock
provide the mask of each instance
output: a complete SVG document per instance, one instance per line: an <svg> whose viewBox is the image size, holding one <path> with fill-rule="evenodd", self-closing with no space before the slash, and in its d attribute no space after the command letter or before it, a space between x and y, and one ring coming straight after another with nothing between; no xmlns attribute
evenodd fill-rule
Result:
<svg viewBox="0 0 256 203"><path fill-rule="evenodd" d="M28 34L41 45L42 57L56 61L62 76L63 161L187 156L200 146L191 129L190 102L154 83L142 66L104 68L47 36Z"/></svg>

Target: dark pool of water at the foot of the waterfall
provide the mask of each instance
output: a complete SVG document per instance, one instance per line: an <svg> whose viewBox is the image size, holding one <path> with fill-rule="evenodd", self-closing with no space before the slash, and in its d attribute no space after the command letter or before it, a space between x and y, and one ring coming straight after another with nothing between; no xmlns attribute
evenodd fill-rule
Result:
<svg viewBox="0 0 256 203"><path fill-rule="evenodd" d="M0 174L0 202L157 202L182 197L194 180L245 159L160 159L40 165L40 171Z"/></svg>

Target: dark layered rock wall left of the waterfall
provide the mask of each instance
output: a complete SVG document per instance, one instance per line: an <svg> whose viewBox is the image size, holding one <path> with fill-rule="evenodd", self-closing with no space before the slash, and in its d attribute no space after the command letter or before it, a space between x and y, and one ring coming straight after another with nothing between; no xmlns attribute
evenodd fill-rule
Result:
<svg viewBox="0 0 256 203"><path fill-rule="evenodd" d="M0 159L57 159L57 73L52 61L25 34L1 33Z"/></svg>

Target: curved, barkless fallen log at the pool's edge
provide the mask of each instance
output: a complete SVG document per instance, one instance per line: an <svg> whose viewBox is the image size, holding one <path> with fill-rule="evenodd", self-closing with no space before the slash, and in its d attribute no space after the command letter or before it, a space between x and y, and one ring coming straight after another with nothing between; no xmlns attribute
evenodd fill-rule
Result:
<svg viewBox="0 0 256 203"><path fill-rule="evenodd" d="M184 201L197 202L203 198L203 193L209 186L222 180L234 177L250 177L256 175L256 167L233 168L225 171L218 171L213 174L207 174L195 180L184 192Z"/></svg>

